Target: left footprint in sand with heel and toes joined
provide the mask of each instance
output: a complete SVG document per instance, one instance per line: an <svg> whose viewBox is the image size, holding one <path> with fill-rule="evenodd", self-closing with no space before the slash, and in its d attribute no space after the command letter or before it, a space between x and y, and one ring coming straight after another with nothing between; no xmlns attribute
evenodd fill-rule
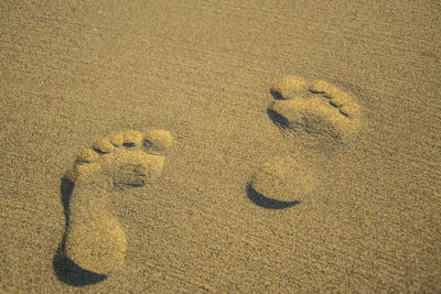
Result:
<svg viewBox="0 0 441 294"><path fill-rule="evenodd" d="M168 131L127 130L83 150L66 174L74 184L64 254L84 270L109 274L123 263L126 235L111 213L111 192L154 183L172 145ZM115 195L115 194L114 194Z"/></svg>

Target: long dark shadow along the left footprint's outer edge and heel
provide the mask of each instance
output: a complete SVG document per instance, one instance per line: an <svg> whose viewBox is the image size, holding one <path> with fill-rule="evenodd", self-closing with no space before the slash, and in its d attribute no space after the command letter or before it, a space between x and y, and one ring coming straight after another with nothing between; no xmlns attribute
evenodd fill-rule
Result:
<svg viewBox="0 0 441 294"><path fill-rule="evenodd" d="M66 176L62 178L62 182L60 184L60 189L61 189L62 203L66 220L65 224L66 229L63 235L62 242L60 243L58 250L55 253L52 266L60 281L73 286L86 286L106 280L107 275L90 272L78 266L64 253L66 247L66 237L67 237L66 231L69 225L69 215L71 215L69 203L74 187L75 184Z"/></svg>

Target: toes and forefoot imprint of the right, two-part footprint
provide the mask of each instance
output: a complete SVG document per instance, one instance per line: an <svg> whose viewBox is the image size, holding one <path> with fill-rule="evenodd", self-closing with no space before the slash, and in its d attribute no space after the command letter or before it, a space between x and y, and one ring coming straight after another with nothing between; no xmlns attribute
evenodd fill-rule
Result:
<svg viewBox="0 0 441 294"><path fill-rule="evenodd" d="M361 128L359 106L342 89L324 80L288 76L271 87L268 115L281 128L346 140Z"/></svg>

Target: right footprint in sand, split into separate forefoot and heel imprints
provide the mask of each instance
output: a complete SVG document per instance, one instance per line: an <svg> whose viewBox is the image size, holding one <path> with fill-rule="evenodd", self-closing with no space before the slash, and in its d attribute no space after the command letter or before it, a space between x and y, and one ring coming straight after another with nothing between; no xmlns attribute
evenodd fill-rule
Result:
<svg viewBox="0 0 441 294"><path fill-rule="evenodd" d="M268 115L284 130L344 142L361 128L359 106L355 99L324 80L288 76L272 85L271 95L275 100ZM318 184L313 160L305 157L313 156L276 157L263 163L252 175L248 197L257 205L273 209L301 203Z"/></svg>

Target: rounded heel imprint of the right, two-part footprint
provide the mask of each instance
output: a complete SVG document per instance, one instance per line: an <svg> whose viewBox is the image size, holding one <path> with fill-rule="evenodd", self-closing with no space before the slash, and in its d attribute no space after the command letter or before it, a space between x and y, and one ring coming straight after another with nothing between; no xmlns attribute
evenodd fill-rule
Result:
<svg viewBox="0 0 441 294"><path fill-rule="evenodd" d="M314 189L315 177L300 160L277 157L261 165L250 184L257 193L269 199L301 202Z"/></svg>

